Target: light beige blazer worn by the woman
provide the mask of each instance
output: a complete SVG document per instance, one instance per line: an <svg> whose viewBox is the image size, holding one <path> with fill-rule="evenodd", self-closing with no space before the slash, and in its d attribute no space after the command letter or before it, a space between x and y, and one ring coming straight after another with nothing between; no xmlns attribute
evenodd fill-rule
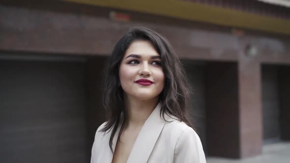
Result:
<svg viewBox="0 0 290 163"><path fill-rule="evenodd" d="M160 104L152 111L145 121L129 155L127 163L206 163L203 146L196 132L185 123L165 116L166 122L160 117ZM106 122L105 122L106 123ZM113 154L109 147L111 131L97 130L91 150L91 163L112 163ZM117 128L113 138L115 150Z"/></svg>

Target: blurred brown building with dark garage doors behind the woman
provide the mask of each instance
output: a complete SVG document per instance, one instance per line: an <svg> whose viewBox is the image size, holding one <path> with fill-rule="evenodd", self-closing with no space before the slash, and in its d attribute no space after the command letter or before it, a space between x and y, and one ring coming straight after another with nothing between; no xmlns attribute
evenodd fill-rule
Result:
<svg viewBox="0 0 290 163"><path fill-rule="evenodd" d="M207 158L290 140L289 0L1 0L0 162L88 163L103 68L132 26L169 39Z"/></svg>

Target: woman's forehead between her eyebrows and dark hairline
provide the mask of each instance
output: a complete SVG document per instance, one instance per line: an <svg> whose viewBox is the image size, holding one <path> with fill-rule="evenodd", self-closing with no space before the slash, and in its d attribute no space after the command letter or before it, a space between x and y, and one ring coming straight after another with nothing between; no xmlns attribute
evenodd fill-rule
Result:
<svg viewBox="0 0 290 163"><path fill-rule="evenodd" d="M152 43L145 40L134 41L127 49L124 57L130 54L139 54L139 55L159 55L155 50Z"/></svg>

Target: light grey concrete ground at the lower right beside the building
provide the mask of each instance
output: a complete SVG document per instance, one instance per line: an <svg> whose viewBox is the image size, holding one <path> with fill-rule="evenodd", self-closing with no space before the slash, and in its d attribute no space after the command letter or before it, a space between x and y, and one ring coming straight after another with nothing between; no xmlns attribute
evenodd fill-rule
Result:
<svg viewBox="0 0 290 163"><path fill-rule="evenodd" d="M290 163L290 142L278 142L263 146L263 153L256 157L235 160L207 157L207 163Z"/></svg>

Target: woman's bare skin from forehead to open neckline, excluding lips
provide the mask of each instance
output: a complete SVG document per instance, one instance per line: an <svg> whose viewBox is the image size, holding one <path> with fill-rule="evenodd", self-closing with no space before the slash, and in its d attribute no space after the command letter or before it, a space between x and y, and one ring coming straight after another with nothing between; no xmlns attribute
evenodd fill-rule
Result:
<svg viewBox="0 0 290 163"><path fill-rule="evenodd" d="M164 88L161 57L150 42L138 40L129 46L120 64L119 79L124 90L128 120L120 141L116 143L112 163L127 162L136 138ZM153 84L140 85L135 82L139 79L153 81Z"/></svg>

